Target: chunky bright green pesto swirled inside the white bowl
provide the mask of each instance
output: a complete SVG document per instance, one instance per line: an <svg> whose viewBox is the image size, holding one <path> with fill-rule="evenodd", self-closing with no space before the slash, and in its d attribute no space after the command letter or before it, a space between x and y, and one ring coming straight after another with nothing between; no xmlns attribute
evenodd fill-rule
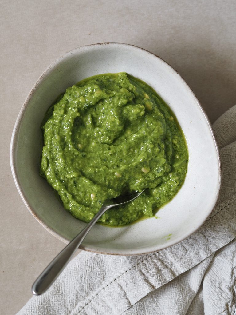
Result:
<svg viewBox="0 0 236 315"><path fill-rule="evenodd" d="M42 130L41 176L82 221L89 222L104 200L144 188L99 221L123 226L153 217L183 184L188 151L176 118L149 85L124 72L66 89Z"/></svg>

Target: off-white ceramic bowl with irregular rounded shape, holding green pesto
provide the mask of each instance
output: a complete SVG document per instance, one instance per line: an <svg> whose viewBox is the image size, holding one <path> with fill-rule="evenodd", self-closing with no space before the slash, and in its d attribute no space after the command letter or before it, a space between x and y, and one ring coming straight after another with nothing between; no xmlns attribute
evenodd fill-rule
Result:
<svg viewBox="0 0 236 315"><path fill-rule="evenodd" d="M68 243L86 223L76 220L39 176L40 124L56 97L83 78L125 71L152 86L175 113L187 140L188 172L177 195L157 216L130 226L96 225L81 249L116 255L158 251L196 231L213 209L220 189L219 153L208 118L183 78L156 55L127 44L102 43L72 50L55 60L35 83L17 118L10 160L15 184L32 215Z"/></svg>

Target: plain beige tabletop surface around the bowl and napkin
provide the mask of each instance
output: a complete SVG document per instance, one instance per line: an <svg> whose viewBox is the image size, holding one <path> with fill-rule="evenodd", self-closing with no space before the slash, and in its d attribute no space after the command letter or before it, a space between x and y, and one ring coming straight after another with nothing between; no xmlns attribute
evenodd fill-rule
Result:
<svg viewBox="0 0 236 315"><path fill-rule="evenodd" d="M26 209L10 170L11 133L37 78L54 59L78 46L131 43L170 63L214 122L236 103L236 2L2 0L0 3L0 313L11 315L28 301L35 278L64 247Z"/></svg>

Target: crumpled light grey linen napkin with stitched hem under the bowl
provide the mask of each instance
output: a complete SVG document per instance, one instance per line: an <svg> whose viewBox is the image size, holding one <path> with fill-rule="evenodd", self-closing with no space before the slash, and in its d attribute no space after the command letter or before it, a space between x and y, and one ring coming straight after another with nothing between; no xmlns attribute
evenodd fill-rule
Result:
<svg viewBox="0 0 236 315"><path fill-rule="evenodd" d="M18 315L236 315L236 105L213 129L222 189L197 232L149 255L82 251Z"/></svg>

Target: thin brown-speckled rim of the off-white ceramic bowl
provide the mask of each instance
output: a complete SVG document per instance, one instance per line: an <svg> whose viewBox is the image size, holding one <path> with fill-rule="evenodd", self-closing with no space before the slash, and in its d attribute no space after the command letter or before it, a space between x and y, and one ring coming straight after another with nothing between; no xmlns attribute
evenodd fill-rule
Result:
<svg viewBox="0 0 236 315"><path fill-rule="evenodd" d="M220 159L220 153L219 153L219 147L217 145L217 142L216 142L216 138L215 138L215 135L214 135L214 132L212 130L212 127L211 127L211 122L205 112L205 110L202 108L199 100L197 99L196 95L194 94L193 90L189 87L189 85L187 84L187 82L183 79L183 77L177 72L176 69L174 69L168 62L166 62L164 59L162 59L161 57L159 57L158 55L150 52L149 50L146 50L146 49L143 49L141 47L138 47L138 46L135 46L135 45L132 45L132 44L126 44L126 43L116 43L116 42L106 42L106 43L94 43L94 44L89 44L89 45L84 45L84 46L79 46L73 50L70 50L68 52L66 52L65 54L61 55L59 58L57 58L56 60L54 60L47 68L46 70L42 73L42 75L38 78L38 80L36 81L36 83L33 85L30 93L28 94L28 96L26 97L21 109L20 109L20 112L17 116L17 119L16 119L16 122L15 122L15 125L14 125L14 128L13 128L13 132L12 132L12 136L11 136L11 142L10 142L10 166L11 166L11 171L12 171L12 175L13 175L13 178L14 178L14 182L15 182L15 185L17 187L17 190L20 194L20 197L22 198L23 202L25 203L25 206L27 207L27 209L30 211L30 213L35 217L35 219L48 231L50 232L53 236L55 236L56 238L58 238L59 240L61 240L62 242L64 243L69 243L69 240L62 237L61 235L59 235L57 232L55 232L52 228L50 228L44 221L42 221L37 213L35 212L35 210L31 207L31 205L29 204L24 192L23 192L23 189L21 187L21 184L20 184L20 180L18 178L18 175L17 175L17 169L16 169L16 165L15 165L15 152L16 152L16 149L17 149L17 144L18 144L18 136L19 136L19 131L20 131L20 126L21 126L21 122L22 122L22 119L24 117L24 114L25 114L25 111L27 109L27 106L32 98L32 96L34 95L35 91L37 90L38 86L43 82L44 78L47 77L56 67L57 65L60 64L60 62L65 58L65 57L68 57L70 54L74 54L76 53L77 51L79 50L83 50L83 49L87 49L87 48L90 48L90 47L97 47L97 46L124 46L124 47L132 47L133 49L137 49L137 50L143 50L144 52L146 52L147 54L151 55L152 57L156 57L158 59L160 59L162 62L166 63L171 69L174 70L174 72L176 72L176 74L178 75L179 79L182 81L183 84L185 84L185 86L191 91L191 94L192 96L194 97L194 99L196 100L200 110L202 111L206 121L207 121L207 124L208 124L208 127L211 131L211 136L212 136L212 139L215 143L215 147L216 147L216 153L217 153L217 157L218 157L218 185L217 185L217 193L216 193L216 197L215 197L215 200L212 204L211 207L209 207L209 210L206 212L206 215L204 216L203 220L201 221L200 224L198 224L198 227L195 228L193 231L191 231L190 233L186 233L181 239L178 239L177 241L174 241L173 243L171 243L170 245L166 246L162 246L162 247L159 247L157 248L156 250L152 250L152 251L147 251L147 252L143 252L143 253L129 253L129 254L124 254L124 253L117 253L117 252L112 252L112 251L101 251L101 250L97 250L93 247L89 247L89 246L83 246L82 244L79 246L79 249L82 249L82 250L85 250L85 251L89 251L89 252L93 252L93 253L97 253L97 254L106 254L106 255L120 255L120 256L127 256L127 255L146 255L146 254L150 254L150 253L153 253L153 252L159 252L163 249L166 249L168 247L171 247L177 243L180 243L182 242L184 239L188 238L190 235L192 235L194 232L196 232L206 221L207 217L210 215L210 213L212 212L212 210L214 209L215 205L216 205L216 202L217 202L217 199L219 197L219 193L220 193L220 189L221 189L221 183L222 183L222 164L221 164L221 159Z"/></svg>

